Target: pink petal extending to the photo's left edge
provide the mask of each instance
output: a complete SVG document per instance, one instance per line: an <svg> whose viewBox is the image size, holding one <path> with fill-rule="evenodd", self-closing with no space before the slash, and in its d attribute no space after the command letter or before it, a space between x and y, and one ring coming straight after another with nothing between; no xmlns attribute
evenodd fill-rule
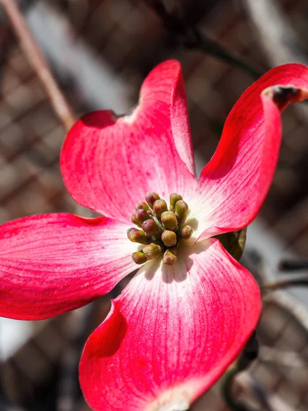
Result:
<svg viewBox="0 0 308 411"><path fill-rule="evenodd" d="M42 214L0 230L0 316L46 319L84 306L136 269L127 225Z"/></svg>

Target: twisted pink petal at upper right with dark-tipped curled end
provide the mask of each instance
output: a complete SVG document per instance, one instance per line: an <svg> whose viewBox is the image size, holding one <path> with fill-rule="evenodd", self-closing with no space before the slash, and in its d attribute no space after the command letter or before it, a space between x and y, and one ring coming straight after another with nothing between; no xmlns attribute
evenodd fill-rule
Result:
<svg viewBox="0 0 308 411"><path fill-rule="evenodd" d="M289 92L279 92L275 85ZM235 104L192 204L199 221L194 234L203 232L200 240L241 229L255 219L272 182L281 143L279 110L268 97L283 110L292 101L306 99L305 88L308 67L286 64L262 76Z"/></svg>

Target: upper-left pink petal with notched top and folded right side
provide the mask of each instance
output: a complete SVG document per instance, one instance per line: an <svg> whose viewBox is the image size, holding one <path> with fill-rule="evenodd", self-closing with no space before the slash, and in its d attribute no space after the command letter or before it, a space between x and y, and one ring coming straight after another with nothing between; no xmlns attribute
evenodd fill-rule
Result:
<svg viewBox="0 0 308 411"><path fill-rule="evenodd" d="M188 198L196 177L179 62L151 71L131 115L99 111L77 121L64 141L61 169L78 203L122 221L146 192Z"/></svg>

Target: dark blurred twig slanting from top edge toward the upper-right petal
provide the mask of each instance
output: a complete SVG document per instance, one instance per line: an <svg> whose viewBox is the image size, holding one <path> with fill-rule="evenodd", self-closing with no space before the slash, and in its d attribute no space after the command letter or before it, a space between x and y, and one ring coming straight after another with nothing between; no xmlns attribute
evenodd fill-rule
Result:
<svg viewBox="0 0 308 411"><path fill-rule="evenodd" d="M251 64L238 57L238 55L222 47L218 42L207 38L207 36L201 33L196 27L187 25L185 21L182 21L175 13L169 13L161 0L144 1L155 11L159 18L162 19L168 31L177 36L184 47L199 49L203 51L203 53L214 55L216 58L220 58L220 60L238 66L254 78L259 78L263 74L251 66Z"/></svg>

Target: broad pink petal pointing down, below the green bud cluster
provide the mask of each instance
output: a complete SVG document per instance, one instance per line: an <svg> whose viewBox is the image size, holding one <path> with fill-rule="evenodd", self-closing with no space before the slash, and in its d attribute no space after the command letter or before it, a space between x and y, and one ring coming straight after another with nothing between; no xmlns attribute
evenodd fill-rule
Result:
<svg viewBox="0 0 308 411"><path fill-rule="evenodd" d="M145 264L88 339L79 375L94 410L186 410L255 329L257 284L218 240L181 256Z"/></svg>

